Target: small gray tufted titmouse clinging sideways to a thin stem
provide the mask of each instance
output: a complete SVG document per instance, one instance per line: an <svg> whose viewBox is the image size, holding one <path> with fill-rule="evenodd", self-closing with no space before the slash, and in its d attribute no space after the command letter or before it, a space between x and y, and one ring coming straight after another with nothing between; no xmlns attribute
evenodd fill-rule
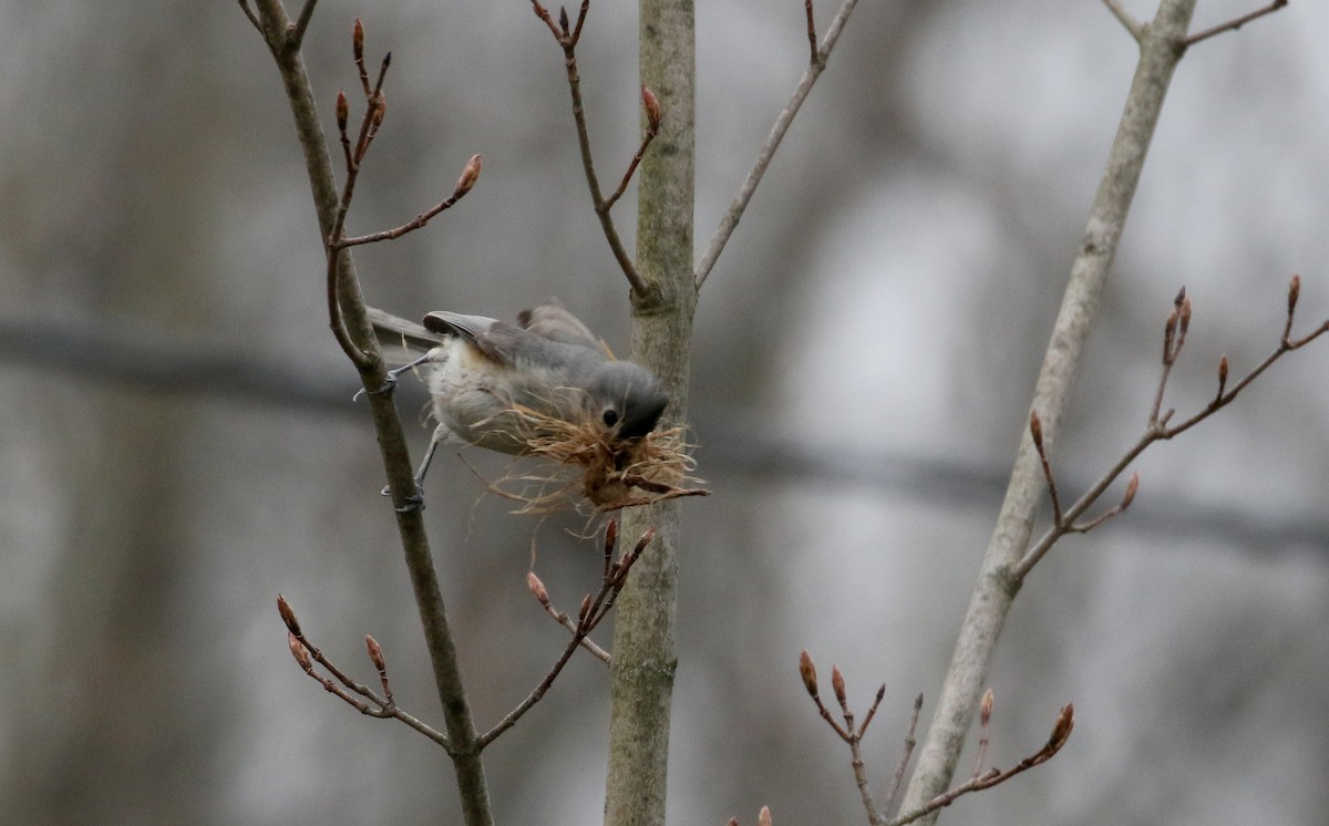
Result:
<svg viewBox="0 0 1329 826"><path fill-rule="evenodd" d="M557 299L522 311L517 324L439 311L420 327L372 308L369 319L387 337L429 348L388 373L396 380L409 369L427 369L439 426L417 479L441 441L526 453L530 433L509 414L514 409L590 422L610 440L630 444L655 429L668 404L646 368L613 359Z"/></svg>

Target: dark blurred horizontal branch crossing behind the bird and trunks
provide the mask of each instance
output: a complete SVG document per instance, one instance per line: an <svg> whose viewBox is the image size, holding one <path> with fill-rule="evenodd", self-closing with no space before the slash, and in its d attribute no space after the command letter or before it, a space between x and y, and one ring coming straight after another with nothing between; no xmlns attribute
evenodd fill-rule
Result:
<svg viewBox="0 0 1329 826"><path fill-rule="evenodd" d="M130 389L213 396L237 404L367 416L354 404L359 380L350 369L238 352L230 341L165 335L159 329L96 329L68 321L0 319L0 363L77 376ZM399 388L407 409L423 408L423 384ZM694 416L698 459L707 478L744 475L763 481L817 479L932 505L995 510L1006 489L1001 462L957 461L890 449L844 450L772 437L744 426L738 413L704 408ZM428 434L421 430L421 438ZM1074 471L1066 485L1082 486ZM1240 501L1203 502L1151 491L1131 506L1120 529L1223 540L1260 554L1293 548L1329 560L1329 519L1271 514Z"/></svg>

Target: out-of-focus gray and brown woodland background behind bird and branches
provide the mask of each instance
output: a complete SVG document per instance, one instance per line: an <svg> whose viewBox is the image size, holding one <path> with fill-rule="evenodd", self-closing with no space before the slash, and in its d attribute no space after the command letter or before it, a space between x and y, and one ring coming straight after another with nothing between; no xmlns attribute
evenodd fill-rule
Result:
<svg viewBox="0 0 1329 826"><path fill-rule="evenodd" d="M801 5L699 4L699 247L803 69ZM1196 28L1255 5L1205 0ZM351 231L486 158L459 208L358 252L369 300L510 317L553 293L626 349L529 5L324 0L307 60L330 127L356 15L393 64ZM606 178L635 147L635 27L598 3L579 49ZM1293 272L1304 328L1329 316L1326 31L1329 8L1294 3L1183 61L1058 445L1067 491L1139 434L1180 284L1181 412L1221 353L1241 374L1272 349ZM763 803L864 821L804 647L860 710L886 684L865 750L885 793L916 693L932 713L1135 54L1090 0L860 4L698 308L715 495L683 507L671 823ZM286 594L363 680L373 633L401 704L440 720L258 35L235 3L7 0L0 66L0 821L459 822L445 756L304 677L274 608ZM993 665L990 756L1037 749L1067 701L1075 734L949 822L1329 819L1326 368L1329 341L1152 449L1131 513L1037 570ZM412 421L423 404L403 396ZM575 521L506 515L451 453L427 494L488 725L566 636L526 592L532 547L567 610L598 555ZM498 819L598 822L606 721L606 671L577 656L486 752Z"/></svg>

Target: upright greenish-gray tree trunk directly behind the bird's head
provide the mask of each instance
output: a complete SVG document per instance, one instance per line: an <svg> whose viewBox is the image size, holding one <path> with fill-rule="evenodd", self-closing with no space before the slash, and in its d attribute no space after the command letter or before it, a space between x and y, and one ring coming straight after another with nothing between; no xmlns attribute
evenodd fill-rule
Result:
<svg viewBox="0 0 1329 826"><path fill-rule="evenodd" d="M668 424L687 412L692 339L691 0L642 0L641 77L659 98L661 134L642 161L637 271L647 286L633 296L633 360L668 388ZM614 619L613 702L605 822L664 823L670 701L674 692L674 608L678 590L678 505L633 509L625 542L654 527L657 539L633 567Z"/></svg>

